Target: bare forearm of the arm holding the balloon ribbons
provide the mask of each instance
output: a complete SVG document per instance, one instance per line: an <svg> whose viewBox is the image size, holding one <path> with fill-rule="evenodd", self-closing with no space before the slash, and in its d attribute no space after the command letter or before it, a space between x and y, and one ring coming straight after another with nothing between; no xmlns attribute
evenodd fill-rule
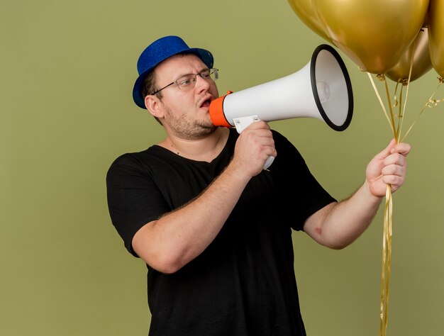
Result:
<svg viewBox="0 0 444 336"><path fill-rule="evenodd" d="M342 249L357 239L372 223L381 197L370 193L367 181L355 194L331 203L307 219L304 230L321 245Z"/></svg>

